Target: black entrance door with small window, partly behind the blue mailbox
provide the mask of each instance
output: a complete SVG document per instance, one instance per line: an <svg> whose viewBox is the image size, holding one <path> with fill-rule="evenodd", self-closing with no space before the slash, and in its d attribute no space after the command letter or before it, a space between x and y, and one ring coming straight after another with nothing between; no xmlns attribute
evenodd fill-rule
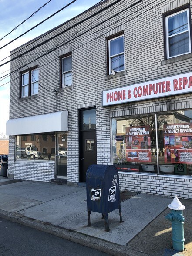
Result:
<svg viewBox="0 0 192 256"><path fill-rule="evenodd" d="M92 164L97 164L96 131L83 131L81 132L80 182L86 182L86 172Z"/></svg>

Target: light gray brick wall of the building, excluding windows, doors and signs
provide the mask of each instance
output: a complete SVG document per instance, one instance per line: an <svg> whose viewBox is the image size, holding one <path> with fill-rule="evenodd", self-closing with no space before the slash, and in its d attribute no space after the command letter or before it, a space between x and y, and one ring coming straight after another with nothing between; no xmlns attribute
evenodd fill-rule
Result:
<svg viewBox="0 0 192 256"><path fill-rule="evenodd" d="M111 164L111 118L192 108L192 94L102 106L102 91L170 77L192 71L192 54L166 60L163 14L192 0L106 0L93 9L12 51L10 119L68 110L67 182L79 182L78 110L96 108L97 162ZM135 2L135 1L134 1ZM104 9L105 7L111 7ZM99 12L99 10L104 11ZM97 13L93 15L94 13ZM86 19L88 17L90 19ZM85 20L80 23L80 21ZM71 29L68 29L72 27ZM63 34L57 34L65 31ZM107 39L120 32L125 40L125 71L107 74ZM54 37L52 40L49 40ZM44 41L47 43L43 44ZM38 48L22 55L36 45ZM60 57L72 53L73 85L60 88ZM27 64L27 65L26 65ZM20 72L39 67L38 95L20 98ZM54 162L15 161L15 137L9 138L8 176L49 182L55 178ZM158 195L178 193L192 199L192 177L120 172L120 187Z"/></svg>

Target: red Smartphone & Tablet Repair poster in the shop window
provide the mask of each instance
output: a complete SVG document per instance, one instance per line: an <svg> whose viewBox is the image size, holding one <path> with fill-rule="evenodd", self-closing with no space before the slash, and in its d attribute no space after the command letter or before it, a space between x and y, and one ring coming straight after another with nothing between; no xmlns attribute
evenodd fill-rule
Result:
<svg viewBox="0 0 192 256"><path fill-rule="evenodd" d="M192 164L192 123L164 125L164 148L165 163Z"/></svg>

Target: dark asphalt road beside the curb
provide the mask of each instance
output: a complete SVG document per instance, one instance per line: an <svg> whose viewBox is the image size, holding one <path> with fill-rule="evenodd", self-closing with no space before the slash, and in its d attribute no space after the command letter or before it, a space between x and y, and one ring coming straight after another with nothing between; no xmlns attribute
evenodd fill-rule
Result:
<svg viewBox="0 0 192 256"><path fill-rule="evenodd" d="M107 256L95 249L0 218L0 256Z"/></svg>

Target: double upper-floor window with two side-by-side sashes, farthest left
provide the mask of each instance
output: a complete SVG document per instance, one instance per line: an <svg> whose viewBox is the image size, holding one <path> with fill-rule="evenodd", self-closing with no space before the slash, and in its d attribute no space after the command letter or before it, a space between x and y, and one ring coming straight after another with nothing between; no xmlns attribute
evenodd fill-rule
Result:
<svg viewBox="0 0 192 256"><path fill-rule="evenodd" d="M31 68L21 74L21 98L38 94L38 80L38 68Z"/></svg>

